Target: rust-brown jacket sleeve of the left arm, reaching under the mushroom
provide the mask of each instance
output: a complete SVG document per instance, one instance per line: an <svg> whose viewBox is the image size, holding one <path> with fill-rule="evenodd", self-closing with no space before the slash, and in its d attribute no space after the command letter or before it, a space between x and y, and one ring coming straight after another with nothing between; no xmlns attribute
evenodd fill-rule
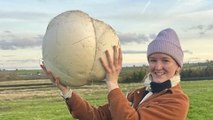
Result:
<svg viewBox="0 0 213 120"><path fill-rule="evenodd" d="M66 104L73 118L79 120L111 119L108 104L96 108L91 106L87 101L83 100L74 92L72 93L72 97L66 100Z"/></svg>

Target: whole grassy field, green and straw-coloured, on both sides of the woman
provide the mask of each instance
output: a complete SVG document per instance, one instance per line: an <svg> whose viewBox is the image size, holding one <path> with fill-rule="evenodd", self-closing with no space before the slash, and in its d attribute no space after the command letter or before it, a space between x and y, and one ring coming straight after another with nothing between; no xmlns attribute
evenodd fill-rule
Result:
<svg viewBox="0 0 213 120"><path fill-rule="evenodd" d="M43 80L42 83L49 83L49 80ZM3 83L0 82L1 84ZM190 98L187 120L211 120L213 80L183 81L181 84ZM141 85L141 83L120 84L124 93ZM94 106L107 103L105 84L88 85L74 90ZM72 120L64 100L58 93L59 90L54 86L0 89L0 120Z"/></svg>

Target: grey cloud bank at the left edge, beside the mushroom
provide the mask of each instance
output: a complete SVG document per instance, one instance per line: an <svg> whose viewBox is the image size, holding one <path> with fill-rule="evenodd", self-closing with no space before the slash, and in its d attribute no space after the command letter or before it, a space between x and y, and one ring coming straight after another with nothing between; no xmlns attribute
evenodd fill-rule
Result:
<svg viewBox="0 0 213 120"><path fill-rule="evenodd" d="M0 49L16 50L29 47L38 47L42 43L42 35L21 35L10 31L0 33Z"/></svg>

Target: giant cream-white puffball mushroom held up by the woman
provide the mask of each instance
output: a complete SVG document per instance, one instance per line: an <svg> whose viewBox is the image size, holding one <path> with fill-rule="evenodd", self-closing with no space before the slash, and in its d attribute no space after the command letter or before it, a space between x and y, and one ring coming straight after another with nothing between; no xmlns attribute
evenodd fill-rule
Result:
<svg viewBox="0 0 213 120"><path fill-rule="evenodd" d="M112 27L75 10L53 18L42 43L44 65L68 86L101 81L105 70L99 58L105 51L113 54L119 39Z"/></svg>

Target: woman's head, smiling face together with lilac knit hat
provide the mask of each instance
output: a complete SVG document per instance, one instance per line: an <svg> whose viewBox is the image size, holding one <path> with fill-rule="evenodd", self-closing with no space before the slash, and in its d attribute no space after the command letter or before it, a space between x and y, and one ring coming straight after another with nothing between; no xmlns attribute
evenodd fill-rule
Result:
<svg viewBox="0 0 213 120"><path fill-rule="evenodd" d="M166 29L148 46L149 71L155 82L162 83L179 75L183 66L183 51L175 31Z"/></svg>

